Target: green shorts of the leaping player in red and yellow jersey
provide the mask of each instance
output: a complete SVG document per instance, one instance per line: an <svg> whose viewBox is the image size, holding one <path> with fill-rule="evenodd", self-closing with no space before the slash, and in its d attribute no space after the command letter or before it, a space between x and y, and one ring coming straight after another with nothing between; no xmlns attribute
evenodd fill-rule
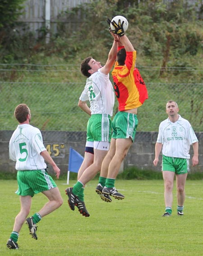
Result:
<svg viewBox="0 0 203 256"><path fill-rule="evenodd" d="M130 137L134 142L137 126L138 118L136 114L120 111L112 121L113 133L111 137L114 139Z"/></svg>

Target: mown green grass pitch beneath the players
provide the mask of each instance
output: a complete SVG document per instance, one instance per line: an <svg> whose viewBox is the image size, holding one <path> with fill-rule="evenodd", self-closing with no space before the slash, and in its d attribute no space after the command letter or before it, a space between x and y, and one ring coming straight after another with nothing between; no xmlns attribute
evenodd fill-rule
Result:
<svg viewBox="0 0 203 256"><path fill-rule="evenodd" d="M83 217L71 211L65 195L65 180L56 181L64 204L38 223L34 240L26 224L18 239L19 250L9 250L6 242L19 211L16 180L0 180L0 255L84 255L148 256L203 255L202 180L187 180L184 216L176 215L174 187L173 214L163 218L163 180L116 180L124 200L103 202L94 192L97 180L88 183L85 202L90 213ZM75 181L70 180L70 185ZM31 214L46 203L35 195Z"/></svg>

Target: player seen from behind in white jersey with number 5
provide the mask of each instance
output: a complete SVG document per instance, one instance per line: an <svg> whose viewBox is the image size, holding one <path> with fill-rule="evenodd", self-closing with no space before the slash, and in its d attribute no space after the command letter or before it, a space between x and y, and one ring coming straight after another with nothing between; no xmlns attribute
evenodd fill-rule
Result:
<svg viewBox="0 0 203 256"><path fill-rule="evenodd" d="M14 111L18 120L18 127L9 141L9 158L16 162L18 190L21 210L15 218L13 232L7 242L9 249L18 249L19 232L26 221L29 232L37 240L37 225L42 217L53 212L63 204L60 191L55 181L46 171L46 163L49 163L59 178L60 169L44 147L42 133L36 127L30 125L31 113L26 104L19 104ZM42 192L49 201L32 217L27 218L32 197Z"/></svg>

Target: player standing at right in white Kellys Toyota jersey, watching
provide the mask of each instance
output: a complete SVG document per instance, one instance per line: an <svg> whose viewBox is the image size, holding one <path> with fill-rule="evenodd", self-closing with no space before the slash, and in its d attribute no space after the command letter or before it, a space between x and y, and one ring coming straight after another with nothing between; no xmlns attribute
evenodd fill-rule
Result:
<svg viewBox="0 0 203 256"><path fill-rule="evenodd" d="M162 175L164 179L164 199L166 212L163 217L171 216L173 201L173 182L176 176L177 214L183 215L185 202L185 181L189 171L189 148L193 145L194 156L192 165L198 164L198 139L189 121L178 114L179 108L175 101L166 104L168 119L159 125L159 133L155 145L155 159L157 166L162 148ZM163 147L162 147L163 145Z"/></svg>

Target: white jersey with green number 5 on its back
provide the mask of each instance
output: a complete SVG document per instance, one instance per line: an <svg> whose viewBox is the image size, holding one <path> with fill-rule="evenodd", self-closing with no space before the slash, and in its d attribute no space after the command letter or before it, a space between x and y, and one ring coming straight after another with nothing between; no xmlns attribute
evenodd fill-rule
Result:
<svg viewBox="0 0 203 256"><path fill-rule="evenodd" d="M42 133L30 124L19 124L9 141L9 158L16 161L15 169L42 170L46 168Z"/></svg>

